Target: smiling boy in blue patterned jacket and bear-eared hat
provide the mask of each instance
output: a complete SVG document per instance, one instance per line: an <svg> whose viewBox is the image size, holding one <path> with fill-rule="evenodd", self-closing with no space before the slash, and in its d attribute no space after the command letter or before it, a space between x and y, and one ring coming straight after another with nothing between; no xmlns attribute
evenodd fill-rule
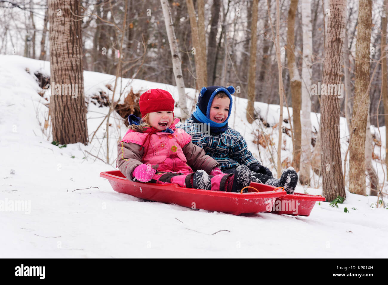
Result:
<svg viewBox="0 0 388 285"><path fill-rule="evenodd" d="M293 194L298 175L289 167L281 178L272 177L271 171L263 166L248 150L244 137L228 127L232 110L233 86L208 86L201 88L196 111L177 127L184 129L192 137L192 143L204 149L220 164L224 173L234 173L239 165L251 170L251 180L259 183L284 187ZM210 130L208 128L210 126Z"/></svg>

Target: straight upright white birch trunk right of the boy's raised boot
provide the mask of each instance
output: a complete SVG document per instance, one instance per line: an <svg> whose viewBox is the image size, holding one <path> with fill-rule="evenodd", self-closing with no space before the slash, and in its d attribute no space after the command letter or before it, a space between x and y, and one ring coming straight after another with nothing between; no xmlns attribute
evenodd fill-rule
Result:
<svg viewBox="0 0 388 285"><path fill-rule="evenodd" d="M301 155L300 174L301 184L310 184L311 169L311 76L312 76L312 22L311 2L302 0L302 29L303 29L303 68L302 68L302 115L301 115Z"/></svg>

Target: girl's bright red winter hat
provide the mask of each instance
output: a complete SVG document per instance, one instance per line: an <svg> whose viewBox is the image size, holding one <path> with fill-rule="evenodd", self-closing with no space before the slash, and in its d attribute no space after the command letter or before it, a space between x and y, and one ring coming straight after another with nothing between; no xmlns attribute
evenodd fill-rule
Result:
<svg viewBox="0 0 388 285"><path fill-rule="evenodd" d="M174 117L175 101L171 94L163 89L149 89L140 96L140 113L142 117L147 113L172 111Z"/></svg>

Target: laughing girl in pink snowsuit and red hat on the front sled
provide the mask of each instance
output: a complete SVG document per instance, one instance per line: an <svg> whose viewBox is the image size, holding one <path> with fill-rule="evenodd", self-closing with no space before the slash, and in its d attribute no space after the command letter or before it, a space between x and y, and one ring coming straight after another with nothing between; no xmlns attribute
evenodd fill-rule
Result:
<svg viewBox="0 0 388 285"><path fill-rule="evenodd" d="M174 103L171 94L162 89L150 89L140 96L142 119L130 115L128 131L118 144L117 164L125 177L228 192L249 186L246 166L234 174L222 173L217 161L194 145L189 134L175 128L179 119L173 118Z"/></svg>

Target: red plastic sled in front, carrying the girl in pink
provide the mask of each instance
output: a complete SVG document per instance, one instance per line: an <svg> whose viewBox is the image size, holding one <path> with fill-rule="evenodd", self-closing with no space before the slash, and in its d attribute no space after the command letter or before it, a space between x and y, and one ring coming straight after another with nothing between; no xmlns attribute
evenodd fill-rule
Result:
<svg viewBox="0 0 388 285"><path fill-rule="evenodd" d="M199 190L184 188L178 184L155 184L133 182L120 170L105 171L100 177L108 179L113 190L129 194L141 199L178 204L192 209L204 209L240 215L243 213L270 212L276 198L286 196L286 191L274 186L251 183L258 189L248 189L248 193L232 193L222 191Z"/></svg>

